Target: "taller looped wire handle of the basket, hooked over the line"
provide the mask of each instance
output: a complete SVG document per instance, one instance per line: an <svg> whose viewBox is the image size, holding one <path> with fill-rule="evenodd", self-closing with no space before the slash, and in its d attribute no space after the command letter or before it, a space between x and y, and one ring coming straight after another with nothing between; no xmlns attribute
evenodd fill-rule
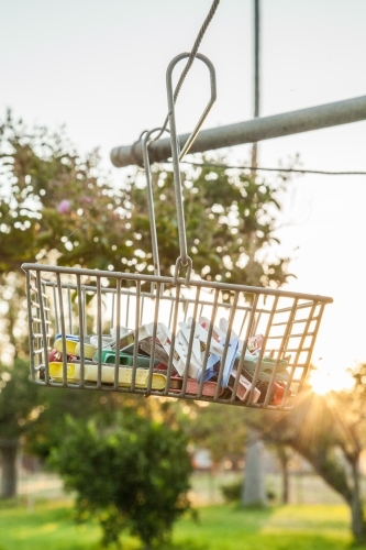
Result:
<svg viewBox="0 0 366 550"><path fill-rule="evenodd" d="M187 255L187 238L186 238L186 226L185 226L185 216L184 216L184 207L182 207L182 195L181 195L181 177L180 177L180 168L179 161L186 155L191 147L193 141L197 138L197 134L208 116L211 107L213 106L217 99L217 80L215 80L215 70L208 57L202 54L197 54L196 57L203 62L210 72L210 82L211 82L211 97L210 100L202 112L198 123L196 124L195 130L188 138L185 143L181 152L179 153L179 142L177 138L177 129L176 129L176 114L175 114L175 101L174 101L174 92L173 92L173 69L178 62L184 59L185 57L189 57L189 53L182 53L177 55L168 65L167 74L166 74L166 88L167 88L167 98L168 98L168 118L169 118L169 129L170 129L170 143L171 143L171 158L173 158L173 170L174 170L174 187L175 187L175 196L176 196L176 208L177 208L177 222L178 222L178 234L179 234L179 248L180 248L180 256L176 263L176 276L178 276L179 266L187 266L190 273L192 261ZM187 278L189 274L187 275Z"/></svg>

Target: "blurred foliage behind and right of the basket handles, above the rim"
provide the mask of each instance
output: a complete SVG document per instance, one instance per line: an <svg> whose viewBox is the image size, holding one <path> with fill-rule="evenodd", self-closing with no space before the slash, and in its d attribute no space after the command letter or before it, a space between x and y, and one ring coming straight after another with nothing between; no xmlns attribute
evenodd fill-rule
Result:
<svg viewBox="0 0 366 550"><path fill-rule="evenodd" d="M202 167L182 175L187 245L195 272L207 280L278 287L290 276L288 258L276 257L274 249L269 255L269 246L278 243L275 229L284 179L274 185L235 172ZM132 242L136 256L147 257L146 190L133 180L130 184L125 199ZM159 261L168 274L179 256L173 173L155 168L153 190ZM147 263L142 262L140 268L147 271Z"/></svg>

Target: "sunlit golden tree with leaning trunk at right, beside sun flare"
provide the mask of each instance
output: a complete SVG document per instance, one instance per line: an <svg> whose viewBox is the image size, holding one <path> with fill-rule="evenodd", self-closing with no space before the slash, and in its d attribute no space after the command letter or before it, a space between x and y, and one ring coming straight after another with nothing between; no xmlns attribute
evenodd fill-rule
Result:
<svg viewBox="0 0 366 550"><path fill-rule="evenodd" d="M365 366L355 375L352 394L319 396L308 388L290 413L263 411L258 417L247 410L245 415L247 424L260 431L265 441L292 448L342 496L350 506L353 536L361 543L366 540L359 483L359 453L366 428L364 386L359 385L363 372Z"/></svg>

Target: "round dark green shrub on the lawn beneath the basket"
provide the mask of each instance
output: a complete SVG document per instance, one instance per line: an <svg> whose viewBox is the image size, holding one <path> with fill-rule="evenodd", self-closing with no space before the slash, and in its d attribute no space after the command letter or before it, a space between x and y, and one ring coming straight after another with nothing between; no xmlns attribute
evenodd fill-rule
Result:
<svg viewBox="0 0 366 550"><path fill-rule="evenodd" d="M189 508L186 436L132 410L113 424L69 419L52 463L77 492L78 519L98 518L104 544L118 542L123 528L159 544Z"/></svg>

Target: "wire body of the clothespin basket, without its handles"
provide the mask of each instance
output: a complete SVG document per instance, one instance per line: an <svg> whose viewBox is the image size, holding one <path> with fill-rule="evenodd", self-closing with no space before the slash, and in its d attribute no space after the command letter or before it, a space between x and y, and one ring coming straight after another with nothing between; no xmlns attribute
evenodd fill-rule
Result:
<svg viewBox="0 0 366 550"><path fill-rule="evenodd" d="M224 285L203 280L162 276L138 276L24 264L30 306L31 373L33 382L54 387L103 389L145 395L203 399L259 408L291 409L295 397L303 386L320 321L329 298L320 296L267 290L241 285ZM154 290L144 287L154 284ZM164 290L164 286L170 286ZM174 286L171 286L174 285ZM208 320L206 345L199 342L202 358L200 381L189 376L196 329L200 319ZM228 321L228 338L222 350L214 382L204 382L204 372L212 353L214 330L220 319ZM189 322L187 322L189 321ZM159 326L171 333L170 353L165 369L156 369L158 353L155 348ZM181 376L177 376L177 333L182 323L189 326L186 356ZM132 327L131 339L140 341L142 327L151 326L151 355L141 355L138 344L125 354L121 363L119 353L111 352L112 362L103 363L102 353L88 359L90 339L98 340L102 350L104 334L114 329L115 341L124 342L122 327ZM222 323L221 323L222 324ZM60 334L59 362L49 353L56 334ZM226 388L222 380L230 354L229 343L235 333L243 345L235 359L235 375ZM263 342L255 362L246 352L253 336L262 333ZM68 334L79 337L78 359L69 359ZM144 336L144 333L143 333ZM124 343L129 344L130 340ZM181 350L181 346L179 348ZM269 361L270 359L270 361ZM121 366L121 364L123 366ZM285 364L285 367L284 367ZM251 374L245 399L241 373ZM278 382L284 385L278 392ZM257 386L260 396L257 396ZM276 391L277 388L277 391ZM240 397L239 397L240 396Z"/></svg>

